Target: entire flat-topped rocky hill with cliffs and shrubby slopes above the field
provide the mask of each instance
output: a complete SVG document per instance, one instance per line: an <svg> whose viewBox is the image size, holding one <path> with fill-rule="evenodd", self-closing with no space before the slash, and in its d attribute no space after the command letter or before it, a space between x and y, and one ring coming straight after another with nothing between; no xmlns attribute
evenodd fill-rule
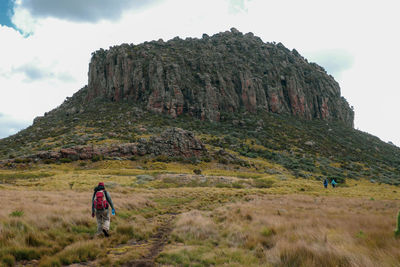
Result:
<svg viewBox="0 0 400 267"><path fill-rule="evenodd" d="M0 140L0 167L162 161L400 184L400 149L353 129L334 79L282 44L230 32L93 54L89 84Z"/></svg>

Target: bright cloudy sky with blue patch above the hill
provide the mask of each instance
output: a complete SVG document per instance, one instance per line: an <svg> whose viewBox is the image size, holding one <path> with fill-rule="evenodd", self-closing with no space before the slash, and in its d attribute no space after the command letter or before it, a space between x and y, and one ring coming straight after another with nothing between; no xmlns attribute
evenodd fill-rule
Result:
<svg viewBox="0 0 400 267"><path fill-rule="evenodd" d="M88 82L91 53L237 28L324 67L355 128L400 146L398 0L0 0L0 138Z"/></svg>

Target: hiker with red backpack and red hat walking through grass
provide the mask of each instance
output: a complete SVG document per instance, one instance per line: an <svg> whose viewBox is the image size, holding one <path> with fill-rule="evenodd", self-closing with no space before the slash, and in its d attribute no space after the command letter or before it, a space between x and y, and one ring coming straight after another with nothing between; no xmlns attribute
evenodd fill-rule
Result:
<svg viewBox="0 0 400 267"><path fill-rule="evenodd" d="M100 235L101 232L103 232L106 237L109 236L108 231L110 229L110 210L108 206L111 206L112 215L115 215L115 209L111 200L111 196L105 190L104 183L100 182L99 185L94 188L92 197L92 217L96 215L97 219L96 235Z"/></svg>

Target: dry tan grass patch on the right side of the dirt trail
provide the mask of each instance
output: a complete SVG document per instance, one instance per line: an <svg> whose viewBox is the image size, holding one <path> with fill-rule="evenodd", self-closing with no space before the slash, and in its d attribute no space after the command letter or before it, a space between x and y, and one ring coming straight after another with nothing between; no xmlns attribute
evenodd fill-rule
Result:
<svg viewBox="0 0 400 267"><path fill-rule="evenodd" d="M217 244L213 250L247 251L260 265L399 266L400 241L393 235L398 205L398 201L339 197L264 196L228 204L212 213L182 214L176 231L200 234L212 229ZM179 236L180 242L193 245L193 235ZM185 249L171 245L162 259L182 256ZM210 252L203 251L197 262L209 257Z"/></svg>

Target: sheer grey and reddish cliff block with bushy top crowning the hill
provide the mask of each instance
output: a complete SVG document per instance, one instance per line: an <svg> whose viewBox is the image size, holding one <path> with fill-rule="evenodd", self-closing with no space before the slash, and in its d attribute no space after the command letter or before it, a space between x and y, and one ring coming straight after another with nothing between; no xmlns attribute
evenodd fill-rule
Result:
<svg viewBox="0 0 400 267"><path fill-rule="evenodd" d="M354 113L338 83L281 43L235 29L93 54L87 100L134 101L147 109L218 121L222 112L267 111L343 121Z"/></svg>

